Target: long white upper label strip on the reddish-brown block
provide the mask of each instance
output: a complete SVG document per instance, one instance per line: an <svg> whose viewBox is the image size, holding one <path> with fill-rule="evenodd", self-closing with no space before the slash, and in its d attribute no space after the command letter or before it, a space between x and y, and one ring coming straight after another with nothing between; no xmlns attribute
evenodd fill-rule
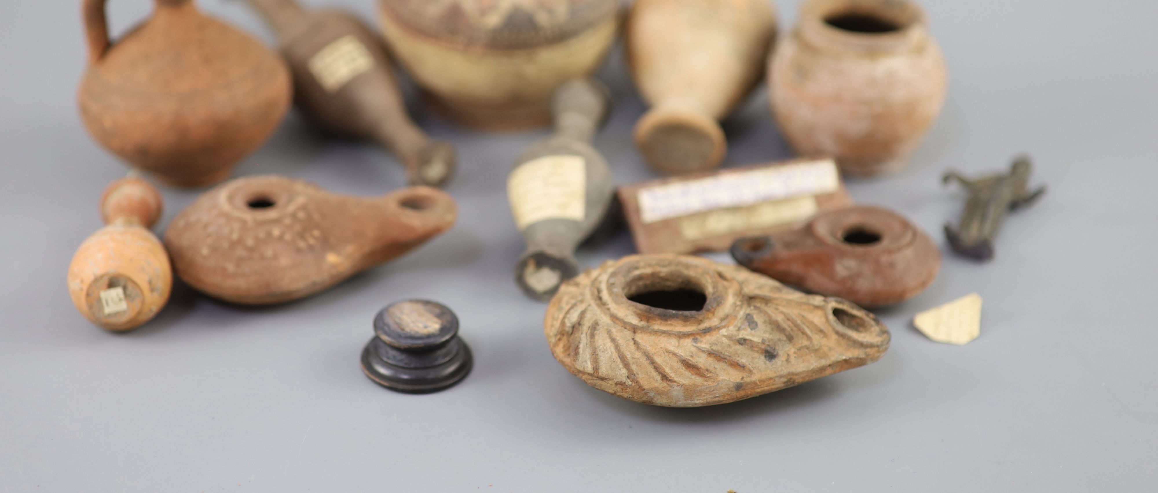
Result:
<svg viewBox="0 0 1158 493"><path fill-rule="evenodd" d="M665 219L834 192L841 177L833 160L772 165L639 190L639 219Z"/></svg>

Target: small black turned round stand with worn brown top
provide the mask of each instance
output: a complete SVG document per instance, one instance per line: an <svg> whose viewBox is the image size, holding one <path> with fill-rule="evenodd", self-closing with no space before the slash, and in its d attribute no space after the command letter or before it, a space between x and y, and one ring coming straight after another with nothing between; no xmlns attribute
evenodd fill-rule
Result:
<svg viewBox="0 0 1158 493"><path fill-rule="evenodd" d="M437 392L470 373L470 347L459 337L459 317L441 303L408 300L374 317L374 338L362 349L362 371L400 392Z"/></svg>

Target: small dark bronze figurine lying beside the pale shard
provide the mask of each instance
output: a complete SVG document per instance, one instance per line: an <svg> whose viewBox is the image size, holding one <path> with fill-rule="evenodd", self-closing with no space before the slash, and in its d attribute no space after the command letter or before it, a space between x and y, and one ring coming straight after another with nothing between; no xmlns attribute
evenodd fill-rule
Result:
<svg viewBox="0 0 1158 493"><path fill-rule="evenodd" d="M976 179L967 179L957 171L948 171L941 178L944 183L957 181L965 185L969 199L965 203L965 215L961 226L953 228L945 225L945 237L958 253L979 260L994 257L994 237L1006 211L1013 211L1033 204L1046 187L1029 191L1029 174L1033 165L1028 156L1013 160L1007 175L994 174Z"/></svg>

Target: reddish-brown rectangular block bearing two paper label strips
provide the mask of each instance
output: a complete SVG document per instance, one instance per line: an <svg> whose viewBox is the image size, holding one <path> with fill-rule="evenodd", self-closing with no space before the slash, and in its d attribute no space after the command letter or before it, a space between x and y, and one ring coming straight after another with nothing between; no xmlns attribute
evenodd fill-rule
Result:
<svg viewBox="0 0 1158 493"><path fill-rule="evenodd" d="M724 251L745 236L792 229L852 205L833 160L798 159L620 187L640 253Z"/></svg>

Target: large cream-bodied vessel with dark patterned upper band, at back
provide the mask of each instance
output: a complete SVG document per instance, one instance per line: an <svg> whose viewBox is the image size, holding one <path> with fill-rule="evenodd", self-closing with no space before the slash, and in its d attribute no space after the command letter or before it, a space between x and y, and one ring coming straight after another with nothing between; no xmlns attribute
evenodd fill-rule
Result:
<svg viewBox="0 0 1158 493"><path fill-rule="evenodd" d="M618 0L379 0L382 31L434 110L484 130L551 122L551 93L593 73Z"/></svg>

